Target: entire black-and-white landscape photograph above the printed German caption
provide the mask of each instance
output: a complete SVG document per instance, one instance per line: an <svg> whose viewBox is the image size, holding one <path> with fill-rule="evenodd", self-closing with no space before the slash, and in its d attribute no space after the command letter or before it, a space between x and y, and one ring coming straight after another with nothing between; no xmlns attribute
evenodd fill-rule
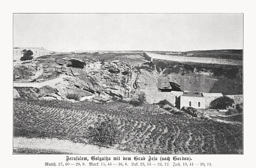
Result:
<svg viewBox="0 0 256 168"><path fill-rule="evenodd" d="M243 13L12 13L12 154L243 154Z"/></svg>

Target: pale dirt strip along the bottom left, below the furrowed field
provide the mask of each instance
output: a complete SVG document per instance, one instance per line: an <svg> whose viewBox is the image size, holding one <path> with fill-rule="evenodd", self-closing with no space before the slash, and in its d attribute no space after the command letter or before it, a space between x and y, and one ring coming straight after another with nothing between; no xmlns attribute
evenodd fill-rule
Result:
<svg viewBox="0 0 256 168"><path fill-rule="evenodd" d="M73 154L134 154L134 152L117 150L115 148L99 147L79 142L74 143L66 139L13 137L13 149L22 148Z"/></svg>

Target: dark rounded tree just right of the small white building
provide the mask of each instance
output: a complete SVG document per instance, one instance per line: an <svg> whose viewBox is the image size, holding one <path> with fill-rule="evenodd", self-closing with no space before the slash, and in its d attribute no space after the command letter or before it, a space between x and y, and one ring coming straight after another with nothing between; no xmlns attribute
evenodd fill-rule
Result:
<svg viewBox="0 0 256 168"><path fill-rule="evenodd" d="M226 109L227 105L232 105L234 100L225 95L218 97L210 102L210 106L215 109Z"/></svg>

